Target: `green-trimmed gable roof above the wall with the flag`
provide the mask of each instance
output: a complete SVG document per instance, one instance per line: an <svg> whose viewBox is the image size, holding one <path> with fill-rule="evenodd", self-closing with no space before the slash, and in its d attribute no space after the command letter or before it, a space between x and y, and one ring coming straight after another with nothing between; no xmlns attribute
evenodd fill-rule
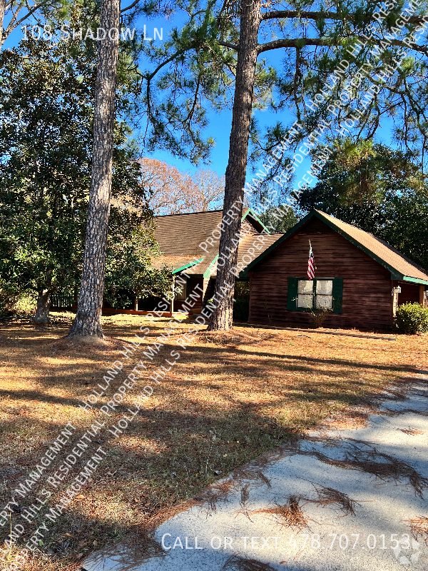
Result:
<svg viewBox="0 0 428 571"><path fill-rule="evenodd" d="M338 218L318 210L311 211L305 218L302 218L300 222L290 228L290 230L273 243L270 248L267 248L258 258L255 258L255 260L248 265L246 271L254 268L265 256L268 256L272 251L281 246L281 244L290 240L292 236L295 236L295 234L300 231L302 226L305 226L305 224L314 217L325 222L327 226L330 226L330 228L346 238L354 244L354 246L357 246L357 248L367 253L370 258L373 258L373 260L377 261L381 266L387 268L387 270L391 272L391 279L428 285L428 272L420 266L417 266L416 263L412 262L407 256L404 256L396 248L390 246L384 240L373 236L373 234L365 232L361 230L361 228L357 228L357 226L342 222Z"/></svg>

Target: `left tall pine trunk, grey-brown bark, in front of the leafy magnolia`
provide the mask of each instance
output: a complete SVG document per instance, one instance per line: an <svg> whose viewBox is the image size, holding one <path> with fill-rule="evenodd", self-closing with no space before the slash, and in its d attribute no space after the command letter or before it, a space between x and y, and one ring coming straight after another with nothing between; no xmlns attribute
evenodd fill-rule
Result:
<svg viewBox="0 0 428 571"><path fill-rule="evenodd" d="M101 0L100 28L106 31L106 39L98 41L91 193L81 289L76 318L68 337L104 337L101 308L111 198L119 11L120 0Z"/></svg>

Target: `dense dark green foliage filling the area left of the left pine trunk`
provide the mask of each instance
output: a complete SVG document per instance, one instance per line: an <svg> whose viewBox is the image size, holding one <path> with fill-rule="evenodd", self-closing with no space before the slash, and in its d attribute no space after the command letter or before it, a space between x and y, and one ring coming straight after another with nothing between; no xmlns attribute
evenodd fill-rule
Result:
<svg viewBox="0 0 428 571"><path fill-rule="evenodd" d="M93 66L32 39L0 58L1 277L16 293L55 290L78 279Z"/></svg>

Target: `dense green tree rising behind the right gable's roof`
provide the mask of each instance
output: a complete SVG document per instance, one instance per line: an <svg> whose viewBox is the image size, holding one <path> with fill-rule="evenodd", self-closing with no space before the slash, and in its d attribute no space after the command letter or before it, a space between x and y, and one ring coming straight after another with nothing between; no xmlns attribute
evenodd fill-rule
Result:
<svg viewBox="0 0 428 571"><path fill-rule="evenodd" d="M414 157L372 141L335 144L299 208L355 224L428 268L428 187Z"/></svg>

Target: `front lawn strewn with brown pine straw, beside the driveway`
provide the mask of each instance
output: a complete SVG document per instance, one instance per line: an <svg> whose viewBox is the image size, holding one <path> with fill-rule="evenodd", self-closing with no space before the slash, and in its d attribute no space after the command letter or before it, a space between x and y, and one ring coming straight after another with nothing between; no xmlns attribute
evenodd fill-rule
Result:
<svg viewBox="0 0 428 571"><path fill-rule="evenodd" d="M118 423L171 350L178 350L181 358L121 438L113 438L107 427L97 435L98 443L81 460L85 463L100 443L108 452L106 460L61 517L49 522L40 552L21 565L26 570L76 569L91 550L131 537L135 530L149 542L147 530L182 509L178 504L190 505L191 498L220 476L428 366L427 335L387 341L241 327L225 334L201 331L186 350L171 335L153 360L144 357L141 347L127 361L117 348L55 343L72 318L71 313L58 313L47 327L24 320L0 325L1 509L66 423L76 432L44 478L58 470L94 420ZM130 315L106 317L103 323L106 334L126 342L149 324ZM151 326L145 343L153 343L166 324L160 319ZM191 326L183 323L177 331ZM140 359L148 368L110 419L99 410L79 408L103 384L116 359L126 364L126 375ZM98 405L111 400L124 378L118 375ZM7 540L10 525L26 528L11 557L79 470L76 465L57 490L41 480L21 498L11 522L0 527L1 542ZM19 511L35 501L42 487L53 492L50 503L27 523Z"/></svg>

